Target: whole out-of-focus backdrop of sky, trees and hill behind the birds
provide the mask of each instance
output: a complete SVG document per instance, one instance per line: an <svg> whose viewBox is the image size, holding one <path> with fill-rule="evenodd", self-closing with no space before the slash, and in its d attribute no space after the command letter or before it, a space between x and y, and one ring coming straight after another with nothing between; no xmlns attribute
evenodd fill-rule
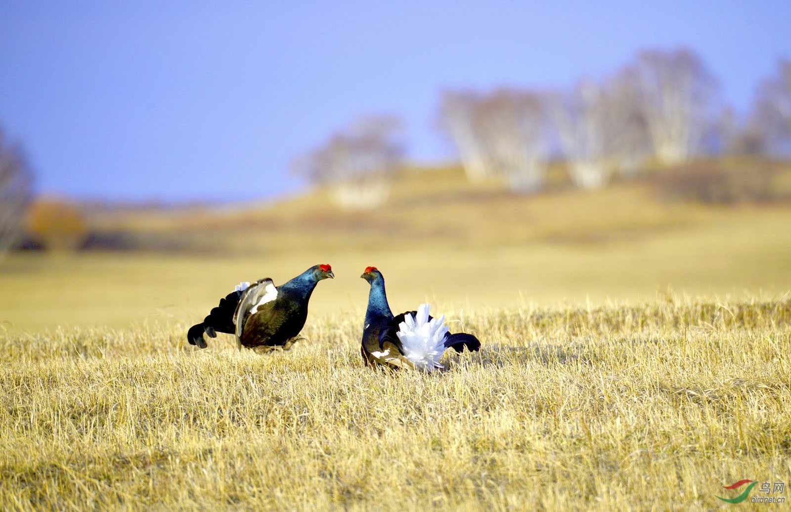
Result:
<svg viewBox="0 0 791 512"><path fill-rule="evenodd" d="M0 4L0 328L787 295L789 2Z"/></svg>

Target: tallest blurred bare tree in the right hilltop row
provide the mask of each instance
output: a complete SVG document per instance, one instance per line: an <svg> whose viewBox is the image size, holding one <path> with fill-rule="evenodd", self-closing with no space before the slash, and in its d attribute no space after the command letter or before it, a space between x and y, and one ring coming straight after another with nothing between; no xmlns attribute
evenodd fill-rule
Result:
<svg viewBox="0 0 791 512"><path fill-rule="evenodd" d="M717 85L692 51L642 51L634 64L643 114L657 159L686 161L711 122Z"/></svg>

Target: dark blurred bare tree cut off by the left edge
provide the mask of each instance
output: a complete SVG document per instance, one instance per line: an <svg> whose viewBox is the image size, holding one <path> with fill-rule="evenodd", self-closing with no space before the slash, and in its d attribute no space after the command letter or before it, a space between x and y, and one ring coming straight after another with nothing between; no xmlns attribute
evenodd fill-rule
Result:
<svg viewBox="0 0 791 512"><path fill-rule="evenodd" d="M0 257L18 240L32 198L32 172L22 151L0 128Z"/></svg>

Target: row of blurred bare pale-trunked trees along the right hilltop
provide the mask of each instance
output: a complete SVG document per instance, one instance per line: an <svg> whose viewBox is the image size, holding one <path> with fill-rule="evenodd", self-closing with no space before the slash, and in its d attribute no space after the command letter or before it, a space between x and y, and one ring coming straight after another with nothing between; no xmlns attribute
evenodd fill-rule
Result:
<svg viewBox="0 0 791 512"><path fill-rule="evenodd" d="M439 120L470 180L505 176L540 188L562 157L581 188L601 188L642 162L677 165L713 152L789 154L791 63L759 84L746 119L723 105L717 81L687 49L642 51L601 81L567 90L445 91Z"/></svg>

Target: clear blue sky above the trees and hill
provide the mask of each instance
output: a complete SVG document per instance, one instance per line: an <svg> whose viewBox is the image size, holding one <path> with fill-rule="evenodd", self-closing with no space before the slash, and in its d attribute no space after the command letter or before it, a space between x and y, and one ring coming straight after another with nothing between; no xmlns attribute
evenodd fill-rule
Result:
<svg viewBox="0 0 791 512"><path fill-rule="evenodd" d="M0 126L40 192L233 201L355 117L448 157L442 88L562 87L684 45L745 109L791 58L791 2L0 2Z"/></svg>

